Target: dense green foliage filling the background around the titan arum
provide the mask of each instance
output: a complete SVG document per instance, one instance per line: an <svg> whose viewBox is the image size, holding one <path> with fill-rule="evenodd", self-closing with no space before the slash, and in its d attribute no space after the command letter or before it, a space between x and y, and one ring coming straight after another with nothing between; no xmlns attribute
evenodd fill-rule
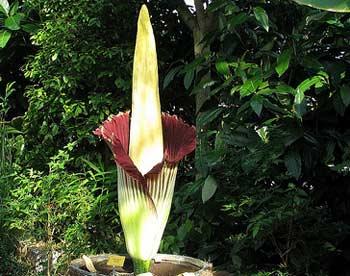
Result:
<svg viewBox="0 0 350 276"><path fill-rule="evenodd" d="M0 50L0 274L24 273L20 240L63 250L52 272L83 253L125 251L115 166L92 130L130 107L142 2L28 0L18 28L1 27L13 34ZM163 109L197 122L205 142L181 165L161 251L235 275L345 275L349 15L215 0L210 51L194 57L167 2L149 3Z"/></svg>

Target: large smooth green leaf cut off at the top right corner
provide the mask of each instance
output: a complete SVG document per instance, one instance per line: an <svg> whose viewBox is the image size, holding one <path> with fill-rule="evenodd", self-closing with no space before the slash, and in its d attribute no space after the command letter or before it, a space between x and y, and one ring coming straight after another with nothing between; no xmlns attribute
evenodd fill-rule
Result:
<svg viewBox="0 0 350 276"><path fill-rule="evenodd" d="M350 12L350 0L293 0L301 5L333 12Z"/></svg>

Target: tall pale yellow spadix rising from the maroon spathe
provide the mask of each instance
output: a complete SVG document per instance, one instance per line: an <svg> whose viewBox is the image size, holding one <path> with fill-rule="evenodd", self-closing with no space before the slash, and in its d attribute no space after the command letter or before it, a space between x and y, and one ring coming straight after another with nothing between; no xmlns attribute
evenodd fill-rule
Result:
<svg viewBox="0 0 350 276"><path fill-rule="evenodd" d="M145 5L137 23L131 112L129 156L145 175L163 159L157 51Z"/></svg>

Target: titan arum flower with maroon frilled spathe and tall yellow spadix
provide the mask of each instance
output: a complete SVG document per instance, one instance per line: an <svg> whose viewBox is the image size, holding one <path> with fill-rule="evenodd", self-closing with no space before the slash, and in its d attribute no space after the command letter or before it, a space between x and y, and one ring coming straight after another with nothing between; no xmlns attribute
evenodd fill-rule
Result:
<svg viewBox="0 0 350 276"><path fill-rule="evenodd" d="M195 149L195 129L161 113L156 44L142 6L134 54L132 109L94 131L111 148L118 170L118 207L136 274L148 272L169 216L177 165Z"/></svg>

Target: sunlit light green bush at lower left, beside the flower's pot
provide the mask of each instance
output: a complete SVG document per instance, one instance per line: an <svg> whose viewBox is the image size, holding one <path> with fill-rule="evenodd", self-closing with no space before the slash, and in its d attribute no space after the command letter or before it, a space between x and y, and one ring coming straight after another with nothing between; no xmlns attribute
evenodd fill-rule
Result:
<svg viewBox="0 0 350 276"><path fill-rule="evenodd" d="M21 240L43 241L49 260L54 251L63 252L60 271L83 253L117 252L122 247L114 201L116 172L96 166L84 173L68 172L73 148L69 144L51 158L48 174L17 172L3 199L6 231Z"/></svg>

